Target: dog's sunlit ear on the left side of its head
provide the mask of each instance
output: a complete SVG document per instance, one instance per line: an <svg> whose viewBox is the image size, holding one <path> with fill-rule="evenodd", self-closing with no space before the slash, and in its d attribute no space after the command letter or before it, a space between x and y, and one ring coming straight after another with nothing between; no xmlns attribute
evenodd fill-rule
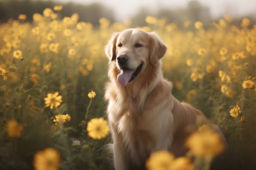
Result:
<svg viewBox="0 0 256 170"><path fill-rule="evenodd" d="M110 61L116 59L116 40L119 33L113 33L111 39L105 46L105 53Z"/></svg>

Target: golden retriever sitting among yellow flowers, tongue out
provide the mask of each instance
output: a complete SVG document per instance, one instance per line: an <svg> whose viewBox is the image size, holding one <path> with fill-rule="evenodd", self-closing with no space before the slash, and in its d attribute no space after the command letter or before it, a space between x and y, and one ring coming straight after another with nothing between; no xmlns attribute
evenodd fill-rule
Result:
<svg viewBox="0 0 256 170"><path fill-rule="evenodd" d="M160 60L167 45L156 33L126 29L105 46L109 58L105 99L116 170L143 170L151 153L168 150L183 156L184 142L206 124L203 113L178 101L163 78Z"/></svg>

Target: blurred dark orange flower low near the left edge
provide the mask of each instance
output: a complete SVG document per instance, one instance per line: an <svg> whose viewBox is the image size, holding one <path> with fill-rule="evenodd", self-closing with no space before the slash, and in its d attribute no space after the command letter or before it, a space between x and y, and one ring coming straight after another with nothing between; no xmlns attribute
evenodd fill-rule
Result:
<svg viewBox="0 0 256 170"><path fill-rule="evenodd" d="M7 122L7 132L9 137L21 137L22 131L23 126L19 124L16 120L9 120Z"/></svg>

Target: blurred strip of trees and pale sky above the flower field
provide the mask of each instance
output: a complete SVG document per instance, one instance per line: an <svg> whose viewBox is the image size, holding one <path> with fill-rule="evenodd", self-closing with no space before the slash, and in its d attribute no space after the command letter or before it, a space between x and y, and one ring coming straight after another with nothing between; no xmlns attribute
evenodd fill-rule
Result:
<svg viewBox="0 0 256 170"><path fill-rule="evenodd" d="M26 14L27 21L32 21L34 13L42 14L45 8L53 8L56 4L63 5L61 16L71 16L76 12L79 21L94 26L99 25L100 17L112 22L129 18L136 26L145 26L146 16L165 18L176 24L183 24L186 20L202 21L204 25L227 13L233 17L233 24L239 24L243 17L252 23L256 19L253 0L0 0L0 22L18 19L19 14Z"/></svg>

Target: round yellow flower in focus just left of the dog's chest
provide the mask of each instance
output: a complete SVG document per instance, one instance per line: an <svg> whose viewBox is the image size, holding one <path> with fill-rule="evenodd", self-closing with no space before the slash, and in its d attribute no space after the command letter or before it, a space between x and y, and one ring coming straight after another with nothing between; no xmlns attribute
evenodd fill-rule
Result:
<svg viewBox="0 0 256 170"><path fill-rule="evenodd" d="M87 124L89 137L93 139L102 139L109 134L109 125L103 118L93 118Z"/></svg>

